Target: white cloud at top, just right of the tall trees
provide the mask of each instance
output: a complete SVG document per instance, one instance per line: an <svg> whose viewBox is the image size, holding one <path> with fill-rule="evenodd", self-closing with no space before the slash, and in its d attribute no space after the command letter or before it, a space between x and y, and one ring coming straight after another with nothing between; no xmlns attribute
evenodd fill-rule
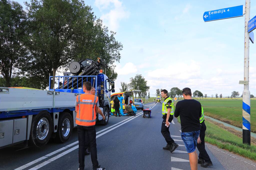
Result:
<svg viewBox="0 0 256 170"><path fill-rule="evenodd" d="M112 31L117 31L119 28L119 22L122 19L128 18L130 14L128 11L125 10L122 2L120 2L119 0L96 0L95 5L100 10L107 9L109 8L109 6L112 7L112 5L114 5L113 9L100 17L103 21L103 24L108 26L109 30Z"/></svg>

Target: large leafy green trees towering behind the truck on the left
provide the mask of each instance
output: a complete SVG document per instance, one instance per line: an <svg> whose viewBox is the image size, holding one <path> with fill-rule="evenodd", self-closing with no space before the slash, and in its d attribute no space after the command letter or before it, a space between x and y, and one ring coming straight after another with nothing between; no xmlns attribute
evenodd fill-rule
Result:
<svg viewBox="0 0 256 170"><path fill-rule="evenodd" d="M109 79L123 46L82 0L0 1L0 86L46 89L72 61L101 58Z"/></svg>

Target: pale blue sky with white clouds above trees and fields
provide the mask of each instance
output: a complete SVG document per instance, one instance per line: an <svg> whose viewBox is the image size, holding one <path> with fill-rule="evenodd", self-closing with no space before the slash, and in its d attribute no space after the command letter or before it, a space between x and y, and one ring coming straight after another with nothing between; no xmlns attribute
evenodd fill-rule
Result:
<svg viewBox="0 0 256 170"><path fill-rule="evenodd" d="M18 0L25 8L24 1ZM29 1L28 1L29 2ZM244 5L230 1L88 0L123 45L116 62L115 91L120 82L141 74L156 89L189 87L203 94L231 96L243 92L244 16L204 22L205 11ZM256 15L251 1L250 18ZM256 35L256 34L255 34ZM255 38L256 39L256 38ZM250 43L249 88L256 96L256 43Z"/></svg>

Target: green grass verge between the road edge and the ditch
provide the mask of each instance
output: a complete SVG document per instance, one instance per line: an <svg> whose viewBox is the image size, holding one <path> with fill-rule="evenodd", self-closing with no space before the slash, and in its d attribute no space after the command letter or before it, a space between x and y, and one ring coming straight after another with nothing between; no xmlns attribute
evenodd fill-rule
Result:
<svg viewBox="0 0 256 170"><path fill-rule="evenodd" d="M177 118L180 123L180 118ZM228 150L230 152L241 155L242 157L249 158L256 161L256 146L243 144L242 138L222 129L221 127L205 121L206 132L205 141L218 148ZM217 132L217 133L216 133Z"/></svg>

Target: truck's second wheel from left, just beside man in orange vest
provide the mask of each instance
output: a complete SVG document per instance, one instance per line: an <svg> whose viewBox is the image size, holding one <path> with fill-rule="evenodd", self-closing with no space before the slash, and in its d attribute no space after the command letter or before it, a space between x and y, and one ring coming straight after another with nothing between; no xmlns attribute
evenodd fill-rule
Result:
<svg viewBox="0 0 256 170"><path fill-rule="evenodd" d="M61 143L69 140L73 131L73 119L67 112L60 114L57 130L57 139Z"/></svg>

